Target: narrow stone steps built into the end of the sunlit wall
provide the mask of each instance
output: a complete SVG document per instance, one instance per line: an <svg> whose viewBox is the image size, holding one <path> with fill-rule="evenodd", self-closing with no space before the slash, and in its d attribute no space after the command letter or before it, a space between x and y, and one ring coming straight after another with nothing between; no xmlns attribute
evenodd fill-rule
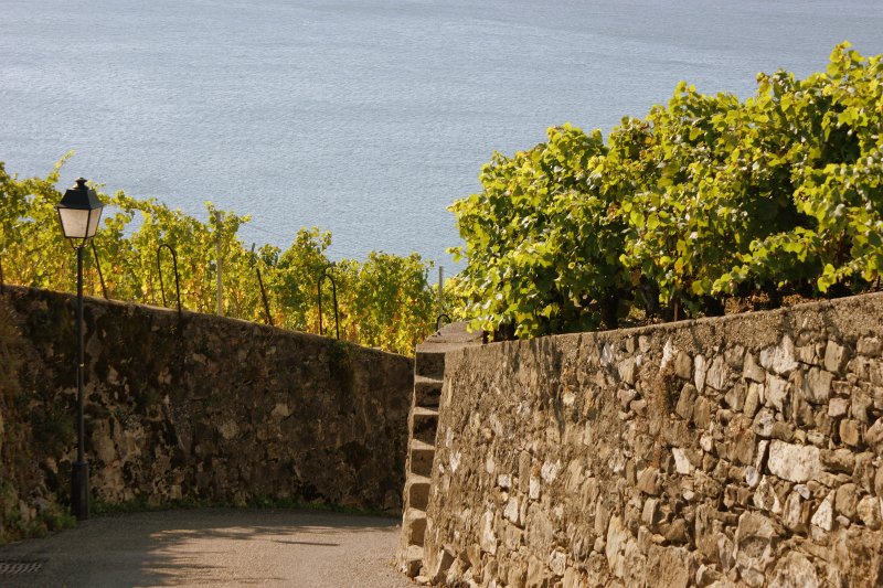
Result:
<svg viewBox="0 0 883 588"><path fill-rule="evenodd" d="M408 416L408 450L405 491L402 501L402 535L398 539L398 568L408 577L422 575L423 539L426 534L426 506L429 504L433 459L435 458L438 410L445 379L445 354L465 346L480 345L481 333L469 333L466 323L454 323L417 345L414 363L414 394ZM425 574L423 574L425 575Z"/></svg>

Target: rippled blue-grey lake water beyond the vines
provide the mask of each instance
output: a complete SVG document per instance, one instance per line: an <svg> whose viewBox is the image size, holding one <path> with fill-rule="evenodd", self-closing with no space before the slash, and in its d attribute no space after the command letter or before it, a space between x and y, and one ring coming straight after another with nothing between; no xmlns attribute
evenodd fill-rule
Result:
<svg viewBox="0 0 883 588"><path fill-rule="evenodd" d="M246 242L332 231L451 267L446 207L494 150L605 131L680 79L751 95L850 40L883 53L879 0L0 0L0 160L205 217Z"/></svg>

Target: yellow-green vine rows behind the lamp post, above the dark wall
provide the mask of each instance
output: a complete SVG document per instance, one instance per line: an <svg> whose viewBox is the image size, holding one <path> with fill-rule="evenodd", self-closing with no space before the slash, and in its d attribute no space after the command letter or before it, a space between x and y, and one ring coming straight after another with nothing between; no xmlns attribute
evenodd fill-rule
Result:
<svg viewBox="0 0 883 588"><path fill-rule="evenodd" d="M55 184L65 160L45 179L19 179L0 162L0 264L7 282L75 291L76 258L55 212L62 197ZM318 333L318 286L327 272L336 288L325 280L323 334L336 334L334 298L340 338L354 343L412 355L435 327L435 297L427 282L432 264L417 254L372 252L362 263L332 264L326 255L331 234L317 228L301 228L284 252L272 245L255 252L236 236L248 216L211 203L203 223L124 192L99 197L105 210L95 248L86 249L87 295L177 308L171 252L162 247L158 255L164 244L175 252L180 302L187 310L216 312L220 260L227 317Z"/></svg>

